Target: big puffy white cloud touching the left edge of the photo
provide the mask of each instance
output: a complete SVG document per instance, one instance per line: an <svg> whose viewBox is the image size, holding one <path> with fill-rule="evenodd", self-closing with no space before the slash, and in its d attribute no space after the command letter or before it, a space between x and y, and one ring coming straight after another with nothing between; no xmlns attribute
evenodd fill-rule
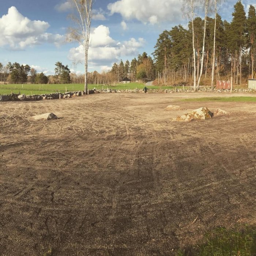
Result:
<svg viewBox="0 0 256 256"><path fill-rule="evenodd" d="M0 18L0 47L8 45L11 49L20 50L44 42L59 46L65 41L64 36L46 33L45 31L49 27L48 22L30 20L12 6L9 8L8 14Z"/></svg>

